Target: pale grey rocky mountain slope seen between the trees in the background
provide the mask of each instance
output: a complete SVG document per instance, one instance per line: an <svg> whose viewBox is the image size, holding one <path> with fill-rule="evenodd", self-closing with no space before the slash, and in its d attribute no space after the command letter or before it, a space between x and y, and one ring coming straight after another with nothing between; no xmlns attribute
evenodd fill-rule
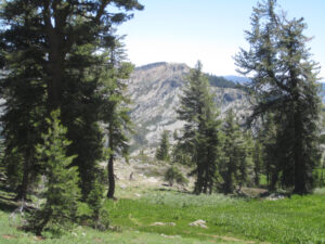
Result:
<svg viewBox="0 0 325 244"><path fill-rule="evenodd" d="M180 105L182 87L186 82L190 67L177 63L154 63L134 69L128 80L128 93L132 100L131 118L135 134L131 141L131 152L148 151L151 154L164 130L172 132L183 127L184 121L177 119L176 108ZM248 97L239 89L211 87L221 116L229 108L238 116L248 113Z"/></svg>

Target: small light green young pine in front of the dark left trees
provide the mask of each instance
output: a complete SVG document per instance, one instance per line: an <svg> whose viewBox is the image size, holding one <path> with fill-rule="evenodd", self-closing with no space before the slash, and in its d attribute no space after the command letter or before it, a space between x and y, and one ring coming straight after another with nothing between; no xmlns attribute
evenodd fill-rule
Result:
<svg viewBox="0 0 325 244"><path fill-rule="evenodd" d="M47 177L46 203L30 216L28 222L39 235L50 223L62 226L70 222L81 197L77 168L69 167L75 156L66 156L70 142L65 138L67 130L61 125L58 117L58 111L51 113L51 118L47 119L48 132L42 134L43 143L36 149Z"/></svg>

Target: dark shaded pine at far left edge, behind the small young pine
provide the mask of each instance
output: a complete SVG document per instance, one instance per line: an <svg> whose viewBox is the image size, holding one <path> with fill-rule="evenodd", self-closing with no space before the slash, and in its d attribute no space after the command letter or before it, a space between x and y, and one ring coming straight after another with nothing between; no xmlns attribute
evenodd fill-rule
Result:
<svg viewBox="0 0 325 244"><path fill-rule="evenodd" d="M29 25L31 20L26 17L17 22ZM0 35L5 39L8 34ZM21 44L27 44L25 39ZM41 54L24 50L20 54L2 52L2 55L5 55L0 79L5 107L1 116L3 160L9 183L17 192L16 198L26 200L30 184L41 170L35 158L35 145L41 139L46 115L46 90L40 80L43 73L36 62Z"/></svg>

